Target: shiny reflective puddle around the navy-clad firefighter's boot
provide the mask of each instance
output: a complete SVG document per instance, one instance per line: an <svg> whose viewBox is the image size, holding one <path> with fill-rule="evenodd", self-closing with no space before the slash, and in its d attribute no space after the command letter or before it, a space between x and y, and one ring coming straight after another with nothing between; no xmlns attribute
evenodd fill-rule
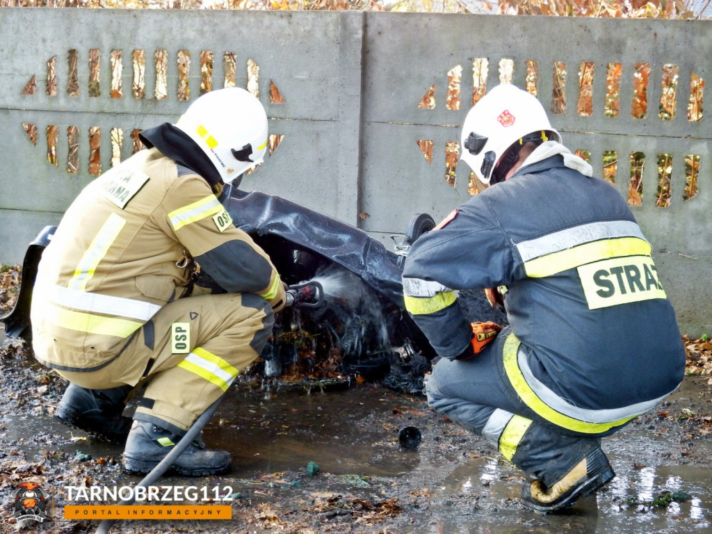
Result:
<svg viewBox="0 0 712 534"><path fill-rule="evenodd" d="M642 534L708 533L712 530L712 473L694 466L619 468L627 459L609 455L617 477L595 496L554 515L538 515L511 506L518 499L521 482L510 466L498 459L481 457L462 464L442 481L439 496L444 512L436 528L416 528L413 533L575 533ZM510 478L513 477L513 478ZM685 503L667 508L630 506L629 500L651 502L669 491L691 495ZM450 502L454 496L471 506ZM482 499L482 501L480 501ZM478 506L478 503L489 506ZM446 508L451 506L448 513ZM459 505L459 506L457 506Z"/></svg>

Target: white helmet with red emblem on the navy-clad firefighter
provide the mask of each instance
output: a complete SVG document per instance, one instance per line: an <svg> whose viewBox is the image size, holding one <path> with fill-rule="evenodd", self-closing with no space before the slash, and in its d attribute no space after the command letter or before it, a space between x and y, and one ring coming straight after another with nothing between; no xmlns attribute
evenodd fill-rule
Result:
<svg viewBox="0 0 712 534"><path fill-rule="evenodd" d="M561 142L561 135L551 127L538 98L511 83L503 83L492 88L468 112L462 127L462 159L483 184L489 184L493 174L496 176L492 181L496 183L516 162L518 150L508 152L508 148L538 140ZM509 156L504 159L514 159L501 162L504 155ZM499 163L506 168L496 173Z"/></svg>

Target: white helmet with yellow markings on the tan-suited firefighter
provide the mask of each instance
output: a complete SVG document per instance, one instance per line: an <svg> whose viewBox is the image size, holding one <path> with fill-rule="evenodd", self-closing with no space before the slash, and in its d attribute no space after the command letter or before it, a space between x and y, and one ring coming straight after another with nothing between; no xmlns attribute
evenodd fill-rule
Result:
<svg viewBox="0 0 712 534"><path fill-rule="evenodd" d="M244 89L229 87L201 95L175 126L205 152L226 184L264 160L267 114Z"/></svg>

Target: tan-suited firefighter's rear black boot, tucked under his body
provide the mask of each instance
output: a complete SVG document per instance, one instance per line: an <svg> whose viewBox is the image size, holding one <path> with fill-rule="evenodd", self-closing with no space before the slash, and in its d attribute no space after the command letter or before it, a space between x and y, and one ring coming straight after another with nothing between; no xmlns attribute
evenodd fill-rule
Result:
<svg viewBox="0 0 712 534"><path fill-rule="evenodd" d="M70 383L54 415L64 424L91 436L123 443L131 428L131 419L121 414L132 389L131 386L86 389Z"/></svg>

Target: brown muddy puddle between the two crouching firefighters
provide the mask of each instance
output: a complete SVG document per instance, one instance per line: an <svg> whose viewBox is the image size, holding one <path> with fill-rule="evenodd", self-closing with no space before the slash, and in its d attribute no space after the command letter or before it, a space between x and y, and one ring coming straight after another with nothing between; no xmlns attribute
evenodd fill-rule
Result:
<svg viewBox="0 0 712 534"><path fill-rule="evenodd" d="M375 426L374 414L415 402L370 385L309 394L239 390L224 399L204 438L231 451L242 473L296 470L314 461L334 474L397 476L417 466L419 455L399 446L397 425Z"/></svg>

